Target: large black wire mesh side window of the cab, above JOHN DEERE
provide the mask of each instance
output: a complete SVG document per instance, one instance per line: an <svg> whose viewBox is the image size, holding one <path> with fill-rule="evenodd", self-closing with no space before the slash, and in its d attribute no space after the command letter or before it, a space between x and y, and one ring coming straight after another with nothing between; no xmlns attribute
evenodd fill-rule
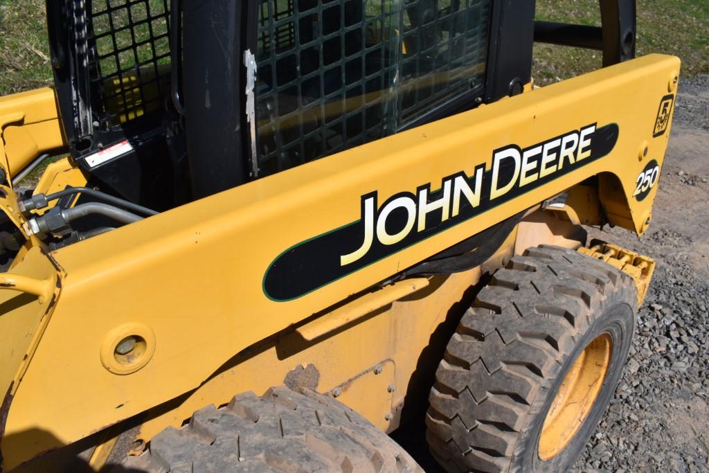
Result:
<svg viewBox="0 0 709 473"><path fill-rule="evenodd" d="M396 133L484 81L490 0L262 0L259 175Z"/></svg>

